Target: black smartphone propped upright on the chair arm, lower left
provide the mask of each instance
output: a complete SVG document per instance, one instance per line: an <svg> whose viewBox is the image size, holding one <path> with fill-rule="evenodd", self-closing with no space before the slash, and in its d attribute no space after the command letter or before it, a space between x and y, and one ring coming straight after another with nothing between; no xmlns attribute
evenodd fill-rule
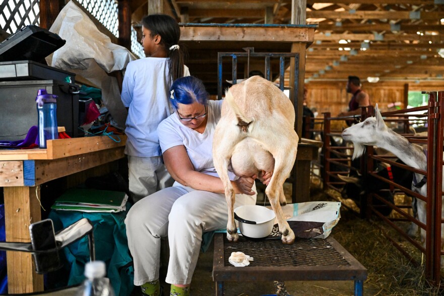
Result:
<svg viewBox="0 0 444 296"><path fill-rule="evenodd" d="M54 226L51 219L41 220L29 225L32 248L36 251L46 251L55 249ZM39 274L57 270L62 267L59 251L47 253L33 253L35 271Z"/></svg>

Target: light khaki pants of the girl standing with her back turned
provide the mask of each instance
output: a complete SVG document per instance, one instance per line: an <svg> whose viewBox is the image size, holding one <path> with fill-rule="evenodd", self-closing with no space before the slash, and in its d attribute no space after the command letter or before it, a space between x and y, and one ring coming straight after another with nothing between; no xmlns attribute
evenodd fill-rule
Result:
<svg viewBox="0 0 444 296"><path fill-rule="evenodd" d="M133 202L171 187L174 179L165 168L161 156L138 157L128 155L129 189Z"/></svg>

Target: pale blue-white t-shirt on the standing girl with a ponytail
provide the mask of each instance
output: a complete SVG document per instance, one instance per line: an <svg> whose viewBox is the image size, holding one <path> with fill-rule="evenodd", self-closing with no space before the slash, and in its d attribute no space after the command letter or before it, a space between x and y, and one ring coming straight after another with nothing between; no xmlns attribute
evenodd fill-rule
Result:
<svg viewBox="0 0 444 296"><path fill-rule="evenodd" d="M169 101L168 57L145 57L130 62L122 85L122 101L128 109L125 153L131 156L161 155L157 126L173 113ZM189 76L185 66L184 76Z"/></svg>

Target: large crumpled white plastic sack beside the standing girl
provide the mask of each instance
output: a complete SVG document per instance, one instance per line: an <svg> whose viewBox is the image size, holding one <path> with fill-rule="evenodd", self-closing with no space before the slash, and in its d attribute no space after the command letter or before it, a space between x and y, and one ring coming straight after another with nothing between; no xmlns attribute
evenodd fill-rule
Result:
<svg viewBox="0 0 444 296"><path fill-rule="evenodd" d="M72 1L57 16L49 31L66 44L46 57L49 66L83 76L102 90L102 100L113 120L125 128L128 112L122 103L117 79L108 73L123 70L136 57L114 44Z"/></svg>

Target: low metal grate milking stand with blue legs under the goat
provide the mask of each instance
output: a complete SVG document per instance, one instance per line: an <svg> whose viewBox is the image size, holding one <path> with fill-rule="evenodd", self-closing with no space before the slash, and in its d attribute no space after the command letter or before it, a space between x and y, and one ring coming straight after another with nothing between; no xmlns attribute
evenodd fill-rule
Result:
<svg viewBox="0 0 444 296"><path fill-rule="evenodd" d="M246 267L228 262L232 252L254 258ZM239 238L229 242L225 233L214 237L213 281L216 295L224 295L225 281L267 280L354 280L354 292L363 295L367 269L335 239L296 239L293 245L281 240L252 241Z"/></svg>

